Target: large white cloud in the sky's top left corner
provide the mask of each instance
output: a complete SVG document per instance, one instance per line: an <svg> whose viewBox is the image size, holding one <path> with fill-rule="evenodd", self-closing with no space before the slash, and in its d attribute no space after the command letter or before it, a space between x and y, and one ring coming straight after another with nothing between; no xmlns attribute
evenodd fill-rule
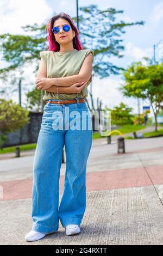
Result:
<svg viewBox="0 0 163 256"><path fill-rule="evenodd" d="M33 25L35 22L41 24L51 17L52 11L46 0L0 1L0 33L26 34L21 26Z"/></svg>

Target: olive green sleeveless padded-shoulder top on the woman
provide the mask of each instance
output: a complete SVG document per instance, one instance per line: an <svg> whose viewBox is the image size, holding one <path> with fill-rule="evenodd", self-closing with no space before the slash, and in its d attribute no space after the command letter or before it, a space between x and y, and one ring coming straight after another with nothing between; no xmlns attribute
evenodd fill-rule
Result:
<svg viewBox="0 0 163 256"><path fill-rule="evenodd" d="M40 57L45 61L47 65L47 77L66 77L78 75L80 68L84 62L87 54L92 53L94 59L94 52L91 49L84 50L71 50L67 52L54 52L54 51L41 51ZM87 86L92 82L92 74L85 84L85 87L80 93L75 94L65 94L59 93L57 97L57 93L50 93L45 90L45 95L43 96L43 100L55 99L55 100L67 100L73 99L75 97L87 97Z"/></svg>

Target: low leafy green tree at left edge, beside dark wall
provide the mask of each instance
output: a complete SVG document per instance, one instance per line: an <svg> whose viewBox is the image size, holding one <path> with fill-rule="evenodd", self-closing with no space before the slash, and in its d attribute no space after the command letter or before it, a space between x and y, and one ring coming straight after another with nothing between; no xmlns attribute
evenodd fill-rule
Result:
<svg viewBox="0 0 163 256"><path fill-rule="evenodd" d="M0 147L7 139L7 133L14 132L29 123L29 112L12 100L0 99Z"/></svg>

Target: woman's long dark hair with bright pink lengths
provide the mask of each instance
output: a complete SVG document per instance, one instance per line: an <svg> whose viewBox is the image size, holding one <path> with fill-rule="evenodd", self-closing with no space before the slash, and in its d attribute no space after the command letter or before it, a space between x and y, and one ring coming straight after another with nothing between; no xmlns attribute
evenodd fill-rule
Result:
<svg viewBox="0 0 163 256"><path fill-rule="evenodd" d="M52 32L54 21L58 20L59 18L65 19L68 22L70 22L72 30L76 32L76 36L74 36L74 38L73 38L73 47L75 49L77 49L78 51L83 50L83 46L82 46L82 44L79 40L79 29L74 25L73 20L71 19L71 17L68 14L59 13L59 14L53 16L48 21L47 26L46 26L46 31L48 32L47 41L48 41L48 44L49 44L49 51L57 52L57 51L60 50L60 45L59 45L58 42L55 42L55 37L54 37L54 34Z"/></svg>

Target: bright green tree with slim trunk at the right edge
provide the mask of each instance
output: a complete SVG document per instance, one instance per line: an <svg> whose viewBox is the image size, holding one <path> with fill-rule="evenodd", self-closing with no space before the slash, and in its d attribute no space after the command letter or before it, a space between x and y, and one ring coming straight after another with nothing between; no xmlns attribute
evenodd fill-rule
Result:
<svg viewBox="0 0 163 256"><path fill-rule="evenodd" d="M124 84L119 88L124 96L148 99L155 117L155 131L158 130L156 115L163 107L163 62L156 65L132 63L123 72Z"/></svg>

